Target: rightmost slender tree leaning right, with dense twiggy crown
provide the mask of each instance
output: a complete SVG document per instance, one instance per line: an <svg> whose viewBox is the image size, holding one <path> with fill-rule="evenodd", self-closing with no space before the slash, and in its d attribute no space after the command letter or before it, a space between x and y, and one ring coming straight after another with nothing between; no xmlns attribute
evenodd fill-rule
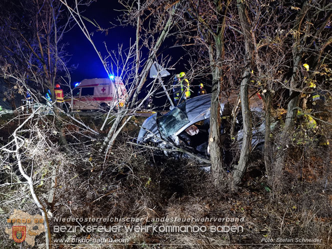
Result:
<svg viewBox="0 0 332 249"><path fill-rule="evenodd" d="M282 170L285 165L286 149L289 134L294 127L295 117L298 112L300 95L308 91L311 80L321 70L324 61L323 52L331 45L331 32L326 29L332 20L332 4L321 0L315 3L305 1L302 5L293 6L293 12L297 12L292 29L288 32L292 35L292 76L286 85L290 89L285 127L280 136L281 145L277 152L274 165L276 184L280 185ZM311 61L311 63L309 62ZM303 64L309 62L309 72L303 70Z"/></svg>

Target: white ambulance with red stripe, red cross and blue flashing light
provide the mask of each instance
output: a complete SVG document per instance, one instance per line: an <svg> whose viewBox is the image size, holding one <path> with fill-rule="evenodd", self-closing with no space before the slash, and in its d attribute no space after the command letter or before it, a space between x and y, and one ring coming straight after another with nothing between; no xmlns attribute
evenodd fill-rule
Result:
<svg viewBox="0 0 332 249"><path fill-rule="evenodd" d="M66 110L117 109L124 105L127 90L120 77L84 79L64 100Z"/></svg>

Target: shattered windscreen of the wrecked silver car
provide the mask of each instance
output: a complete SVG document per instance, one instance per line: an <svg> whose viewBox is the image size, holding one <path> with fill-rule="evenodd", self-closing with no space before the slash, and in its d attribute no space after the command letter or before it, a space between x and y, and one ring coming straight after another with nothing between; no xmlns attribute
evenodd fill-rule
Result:
<svg viewBox="0 0 332 249"><path fill-rule="evenodd" d="M172 111L158 118L158 127L162 135L169 137L178 131L181 127L189 123L185 112L185 103L175 107Z"/></svg>

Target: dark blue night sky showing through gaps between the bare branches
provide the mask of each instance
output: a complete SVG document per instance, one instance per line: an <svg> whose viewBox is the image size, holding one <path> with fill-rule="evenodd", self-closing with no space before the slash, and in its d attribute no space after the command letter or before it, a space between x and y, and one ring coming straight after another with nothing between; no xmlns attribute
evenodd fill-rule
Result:
<svg viewBox="0 0 332 249"><path fill-rule="evenodd" d="M104 41L106 42L109 50L116 50L118 44L123 44L123 48L127 48L129 46L130 38L132 42L135 41L135 27L116 26L116 24L119 24L119 22L116 20L116 17L122 13L118 10L121 9L123 9L123 6L119 4L117 0L98 0L97 2L94 2L90 6L86 7L85 11L83 12L84 16L91 20L96 20L101 27L111 27L111 29L108 30L108 34L106 35L105 33L94 31L96 27L94 27L87 21L85 22L90 32L94 31L93 40L103 56L106 55L106 50L103 44ZM68 43L66 50L71 55L71 59L67 66L77 67L76 69L72 69L70 73L71 87L73 87L76 82L80 82L83 79L108 77L95 50L77 25L71 31L65 34L64 42ZM170 49L167 48L167 46L171 45L173 45L172 41L166 39L166 41L164 42L164 46L161 49L163 57L170 55L172 57L172 62L178 63L176 64L175 70L170 71L171 75L164 78L165 84L172 84L173 76L176 73L179 73L181 71L186 72L186 60L180 59L182 56L185 56L185 51L183 50L183 48L179 47ZM143 57L149 52L147 49L145 50L142 49L141 51ZM151 79L147 78L147 82L145 85L148 85L150 81ZM199 83L202 82L191 81L191 89L193 91L192 96L196 96ZM194 85L196 85L196 87ZM209 89L209 86L205 85L205 88ZM162 90L160 89L160 91ZM139 95L140 98L144 97L145 94L146 92L143 89L143 91ZM158 105L162 105L163 103L167 102L165 96L161 97L161 95L158 94L157 96L159 97L154 98L154 101L158 103Z"/></svg>

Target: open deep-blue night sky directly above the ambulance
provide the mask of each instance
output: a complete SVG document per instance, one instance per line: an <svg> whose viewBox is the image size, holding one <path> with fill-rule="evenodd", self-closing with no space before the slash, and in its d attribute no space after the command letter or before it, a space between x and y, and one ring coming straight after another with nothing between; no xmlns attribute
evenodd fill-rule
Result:
<svg viewBox="0 0 332 249"><path fill-rule="evenodd" d="M112 23L117 23L115 18L120 11L115 9L122 9L123 7L116 0L99 0L92 3L83 12L83 15L89 19L94 19L103 28L113 27L109 29L108 34L95 32L95 27L85 22L89 30L93 32L93 40L103 55L106 54L103 41L106 42L108 48L116 49L118 44L123 44L124 47L129 45L130 37L135 37L134 27L114 27ZM71 81L77 82L85 78L105 78L107 73L98 58L91 43L83 35L80 28L76 25L72 30L67 32L64 36L67 52L71 55L68 67L75 65L76 69L71 70Z"/></svg>

